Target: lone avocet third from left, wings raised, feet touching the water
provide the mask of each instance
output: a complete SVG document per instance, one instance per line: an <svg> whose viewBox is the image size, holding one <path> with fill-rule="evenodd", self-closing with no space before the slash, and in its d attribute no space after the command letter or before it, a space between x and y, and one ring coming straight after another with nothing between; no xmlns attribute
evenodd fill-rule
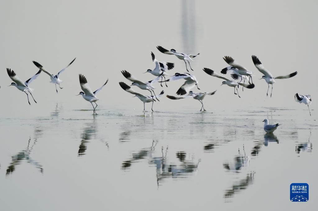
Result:
<svg viewBox="0 0 318 211"><path fill-rule="evenodd" d="M102 85L99 89L97 89L96 91L92 92L92 89L89 87L86 77L79 74L79 84L81 89L83 90L83 92L80 92L78 95L83 96L83 98L90 102L93 106L93 114L97 114L95 109L97 108L97 103L96 101L98 101L99 99L96 97L97 92L99 92L101 89L103 89L103 87L106 85L107 81L104 83L104 85ZM77 96L78 96L77 95ZM96 107L94 107L93 102L96 104Z"/></svg>

